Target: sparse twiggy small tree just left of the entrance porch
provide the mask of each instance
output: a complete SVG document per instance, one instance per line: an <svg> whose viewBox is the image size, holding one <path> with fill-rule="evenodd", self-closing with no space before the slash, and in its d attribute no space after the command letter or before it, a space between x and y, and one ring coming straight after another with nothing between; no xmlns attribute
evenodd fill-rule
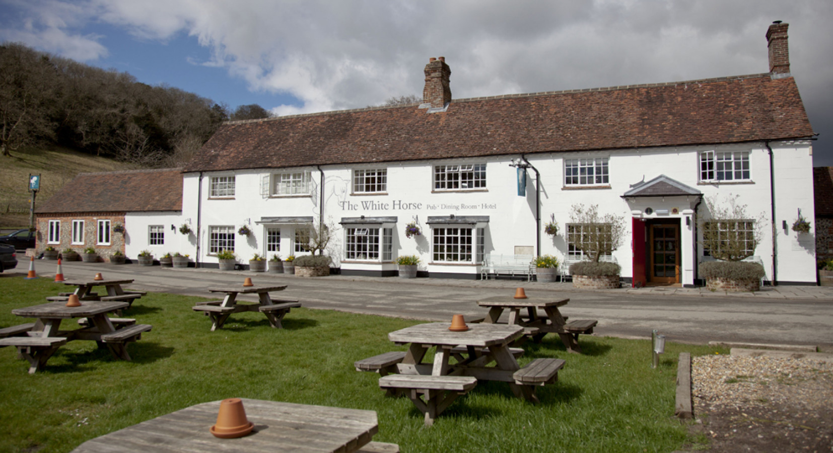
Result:
<svg viewBox="0 0 833 453"><path fill-rule="evenodd" d="M599 214L599 205L573 205L570 221L568 241L590 256L593 262L599 262L603 255L610 255L625 238L624 218L616 214Z"/></svg>

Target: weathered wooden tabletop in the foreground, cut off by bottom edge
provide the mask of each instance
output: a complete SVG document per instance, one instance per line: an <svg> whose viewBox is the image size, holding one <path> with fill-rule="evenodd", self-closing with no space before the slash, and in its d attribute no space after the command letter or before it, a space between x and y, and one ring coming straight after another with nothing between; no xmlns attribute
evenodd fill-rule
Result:
<svg viewBox="0 0 833 453"><path fill-rule="evenodd" d="M399 451L394 444L372 442L379 431L375 411L248 399L242 403L254 430L237 439L218 439L208 431L220 408L220 401L212 401L86 441L73 452Z"/></svg>

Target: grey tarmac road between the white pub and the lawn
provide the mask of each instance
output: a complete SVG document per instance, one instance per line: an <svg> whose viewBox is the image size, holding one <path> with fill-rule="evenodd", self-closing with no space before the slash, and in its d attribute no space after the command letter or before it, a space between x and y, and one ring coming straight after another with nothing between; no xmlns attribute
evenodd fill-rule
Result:
<svg viewBox="0 0 833 453"><path fill-rule="evenodd" d="M15 269L24 275L25 257ZM35 260L38 276L53 277L57 261ZM596 335L642 337L657 329L669 341L708 341L815 345L833 351L833 288L778 286L774 291L724 295L701 290L621 289L573 290L571 283L519 280L471 281L402 279L398 277L328 276L303 278L286 274L216 269L171 269L137 264L62 264L64 277L133 278L129 287L188 296L212 297L206 291L223 283L286 284L278 298L297 299L307 308L332 309L408 319L448 321L461 313L466 319L485 316L476 301L500 294L514 295L523 286L528 296L569 297L561 312L571 319L596 319ZM0 276L10 275L0 274ZM2 288L2 279L0 279ZM782 288L782 289L781 289ZM216 297L214 297L216 298ZM245 297L244 297L245 298Z"/></svg>

